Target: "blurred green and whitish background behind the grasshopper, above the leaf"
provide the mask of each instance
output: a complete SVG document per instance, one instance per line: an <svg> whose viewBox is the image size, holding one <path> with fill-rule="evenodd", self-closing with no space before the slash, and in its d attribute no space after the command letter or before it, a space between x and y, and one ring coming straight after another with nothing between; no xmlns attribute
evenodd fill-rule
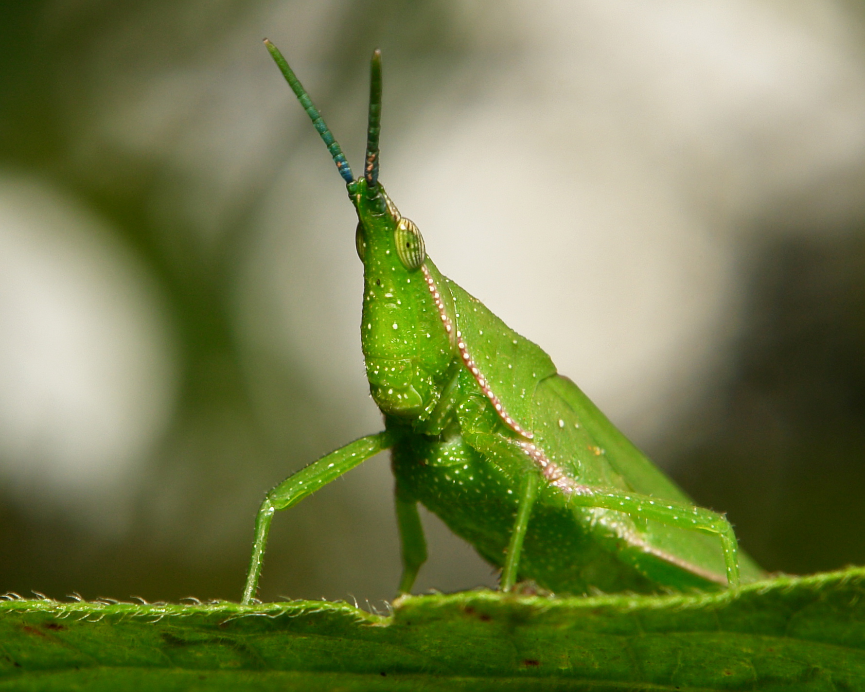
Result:
<svg viewBox="0 0 865 692"><path fill-rule="evenodd" d="M381 423L353 211L261 39L452 279L764 567L865 562L858 3L0 8L0 592L238 599L255 509ZM394 593L388 459L277 516L261 597ZM494 585L425 515L418 588Z"/></svg>

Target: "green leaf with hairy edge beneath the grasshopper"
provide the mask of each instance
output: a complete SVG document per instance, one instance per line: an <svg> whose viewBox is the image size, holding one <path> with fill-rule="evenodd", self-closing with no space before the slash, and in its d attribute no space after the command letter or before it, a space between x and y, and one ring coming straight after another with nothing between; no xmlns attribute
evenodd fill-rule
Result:
<svg viewBox="0 0 865 692"><path fill-rule="evenodd" d="M865 568L737 592L0 604L0 692L865 689Z"/></svg>

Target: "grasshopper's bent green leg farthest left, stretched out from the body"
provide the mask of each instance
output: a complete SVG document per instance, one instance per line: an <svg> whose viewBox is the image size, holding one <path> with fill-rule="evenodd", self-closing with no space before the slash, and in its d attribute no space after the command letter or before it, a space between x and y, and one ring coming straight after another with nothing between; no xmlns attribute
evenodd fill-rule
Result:
<svg viewBox="0 0 865 692"><path fill-rule="evenodd" d="M267 493L261 503L259 514L255 518L255 542L253 556L249 561L247 586L243 590L242 603L249 603L258 591L261 564L264 561L267 534L274 512L288 509L299 503L304 497L316 490L324 488L330 481L336 480L346 471L351 471L356 465L362 464L370 457L394 444L391 432L383 431L365 438L356 439L348 445L340 447L336 452L325 454L324 457L305 466L297 473L292 473L282 483Z"/></svg>

